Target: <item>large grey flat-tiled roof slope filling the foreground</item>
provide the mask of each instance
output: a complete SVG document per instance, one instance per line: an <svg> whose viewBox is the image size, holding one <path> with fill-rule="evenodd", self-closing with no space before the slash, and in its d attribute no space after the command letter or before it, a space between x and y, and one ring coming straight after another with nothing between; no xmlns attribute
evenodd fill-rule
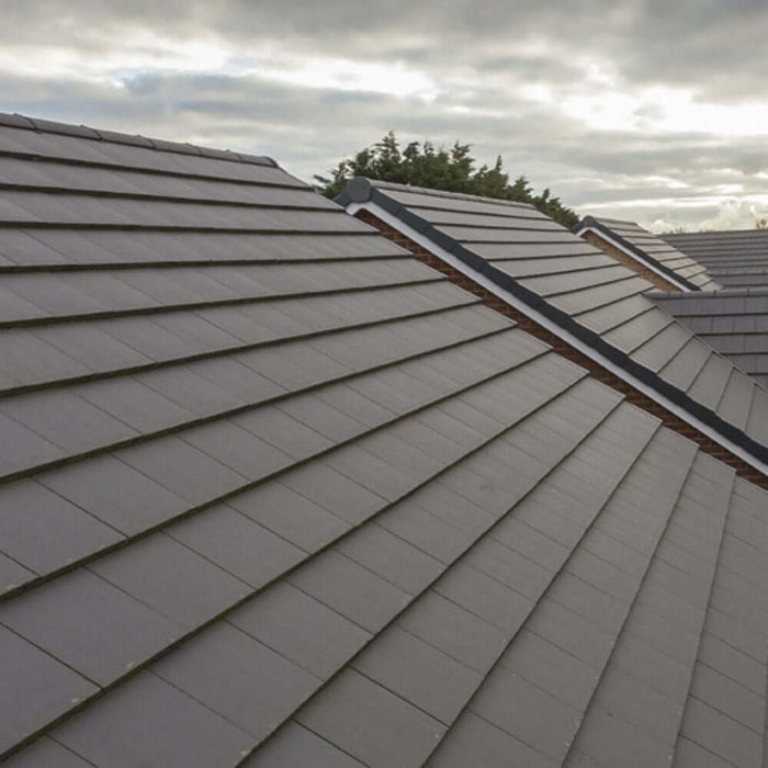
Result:
<svg viewBox="0 0 768 768"><path fill-rule="evenodd" d="M0 184L9 765L760 764L765 490L269 161Z"/></svg>

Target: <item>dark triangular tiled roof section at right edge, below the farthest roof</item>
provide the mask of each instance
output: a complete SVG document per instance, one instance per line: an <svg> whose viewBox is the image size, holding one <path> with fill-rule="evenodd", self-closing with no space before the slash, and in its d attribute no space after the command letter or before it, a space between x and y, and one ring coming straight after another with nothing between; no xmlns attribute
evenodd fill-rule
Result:
<svg viewBox="0 0 768 768"><path fill-rule="evenodd" d="M768 387L768 285L652 295L700 339Z"/></svg>

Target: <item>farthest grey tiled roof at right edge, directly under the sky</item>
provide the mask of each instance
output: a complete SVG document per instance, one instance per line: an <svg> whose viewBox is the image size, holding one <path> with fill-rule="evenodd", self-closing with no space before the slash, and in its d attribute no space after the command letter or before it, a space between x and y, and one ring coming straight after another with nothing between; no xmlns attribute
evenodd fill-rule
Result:
<svg viewBox="0 0 768 768"><path fill-rule="evenodd" d="M768 285L768 230L662 235L670 246L707 267L725 287Z"/></svg>

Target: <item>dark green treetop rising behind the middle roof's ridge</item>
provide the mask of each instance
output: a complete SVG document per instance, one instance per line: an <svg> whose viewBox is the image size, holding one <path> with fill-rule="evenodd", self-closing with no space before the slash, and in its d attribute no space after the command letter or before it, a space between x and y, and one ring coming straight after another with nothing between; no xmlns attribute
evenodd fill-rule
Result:
<svg viewBox="0 0 768 768"><path fill-rule="evenodd" d="M315 189L332 199L343 191L349 179L364 176L399 184L530 203L566 227L578 222L578 216L563 205L560 197L553 197L549 189L534 194L524 176L510 183L500 155L493 168L482 166L474 170L475 159L470 149L471 145L459 142L451 149L438 149L430 142L411 142L400 149L391 131L381 142L362 149L351 159L341 160L329 171L330 176L315 176Z"/></svg>

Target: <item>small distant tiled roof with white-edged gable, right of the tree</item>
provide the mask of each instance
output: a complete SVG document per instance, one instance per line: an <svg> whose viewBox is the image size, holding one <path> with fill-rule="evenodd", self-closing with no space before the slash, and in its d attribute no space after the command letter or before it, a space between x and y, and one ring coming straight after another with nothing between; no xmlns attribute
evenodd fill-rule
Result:
<svg viewBox="0 0 768 768"><path fill-rule="evenodd" d="M705 263L634 222L586 216L574 227L574 233L585 239L594 238L589 241L602 250L617 248L637 264L666 279L670 284L659 285L663 290L712 291L720 287Z"/></svg>

